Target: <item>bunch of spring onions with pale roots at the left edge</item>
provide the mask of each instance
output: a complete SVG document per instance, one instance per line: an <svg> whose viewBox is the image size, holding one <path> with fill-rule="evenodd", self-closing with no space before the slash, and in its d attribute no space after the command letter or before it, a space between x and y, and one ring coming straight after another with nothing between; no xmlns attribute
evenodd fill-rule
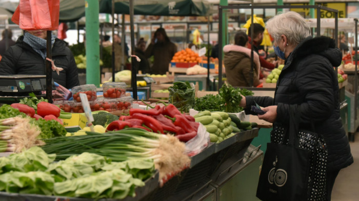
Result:
<svg viewBox="0 0 359 201"><path fill-rule="evenodd" d="M21 152L24 148L44 145L37 139L41 129L30 124L30 118L15 116L0 119L0 152Z"/></svg>

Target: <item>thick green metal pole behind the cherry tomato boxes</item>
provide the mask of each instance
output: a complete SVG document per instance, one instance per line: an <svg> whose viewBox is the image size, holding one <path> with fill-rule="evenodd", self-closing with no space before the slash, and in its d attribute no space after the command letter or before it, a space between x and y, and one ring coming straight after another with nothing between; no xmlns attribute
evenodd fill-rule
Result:
<svg viewBox="0 0 359 201"><path fill-rule="evenodd" d="M85 1L86 16L86 84L99 87L98 0Z"/></svg>

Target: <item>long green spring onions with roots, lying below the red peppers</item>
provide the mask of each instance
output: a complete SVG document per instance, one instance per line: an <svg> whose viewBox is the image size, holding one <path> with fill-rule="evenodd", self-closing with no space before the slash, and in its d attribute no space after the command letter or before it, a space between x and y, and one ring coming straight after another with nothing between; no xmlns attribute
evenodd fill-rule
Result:
<svg viewBox="0 0 359 201"><path fill-rule="evenodd" d="M86 132L87 135L45 139L42 146L46 153L56 153L56 160L83 152L111 158L114 162L128 159L153 159L159 178L181 172L189 167L190 158L185 154L185 144L172 135L128 128L107 133Z"/></svg>

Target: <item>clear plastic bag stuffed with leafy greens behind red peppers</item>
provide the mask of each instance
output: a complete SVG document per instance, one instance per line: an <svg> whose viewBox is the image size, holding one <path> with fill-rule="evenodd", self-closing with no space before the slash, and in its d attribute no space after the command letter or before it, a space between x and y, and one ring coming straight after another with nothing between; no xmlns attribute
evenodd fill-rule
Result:
<svg viewBox="0 0 359 201"><path fill-rule="evenodd" d="M168 88L168 102L176 106L181 112L189 112L194 106L194 84L189 82L175 82Z"/></svg>

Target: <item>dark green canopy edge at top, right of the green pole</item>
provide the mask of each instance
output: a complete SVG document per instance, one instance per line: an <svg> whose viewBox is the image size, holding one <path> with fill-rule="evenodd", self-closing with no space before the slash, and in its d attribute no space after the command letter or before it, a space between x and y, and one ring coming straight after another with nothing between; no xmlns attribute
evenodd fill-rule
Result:
<svg viewBox="0 0 359 201"><path fill-rule="evenodd" d="M135 15L205 16L210 4L201 0L134 1ZM112 0L99 2L100 13L112 13ZM129 14L129 2L115 0L115 13Z"/></svg>

